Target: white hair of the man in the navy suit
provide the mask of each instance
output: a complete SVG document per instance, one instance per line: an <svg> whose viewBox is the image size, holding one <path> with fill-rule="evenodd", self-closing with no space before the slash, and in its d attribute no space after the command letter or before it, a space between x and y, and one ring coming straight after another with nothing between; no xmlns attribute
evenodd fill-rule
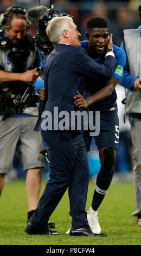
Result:
<svg viewBox="0 0 141 256"><path fill-rule="evenodd" d="M62 16L62 17L54 17L52 20L48 22L46 33L49 37L49 40L56 45L62 38L62 31L67 30L70 31L68 21L73 21L71 17Z"/></svg>

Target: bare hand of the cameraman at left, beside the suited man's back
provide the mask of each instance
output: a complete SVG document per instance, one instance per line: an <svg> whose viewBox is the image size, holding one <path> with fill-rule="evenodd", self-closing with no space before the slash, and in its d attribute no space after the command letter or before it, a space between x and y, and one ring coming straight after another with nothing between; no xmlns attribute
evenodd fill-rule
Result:
<svg viewBox="0 0 141 256"><path fill-rule="evenodd" d="M36 68L37 69L37 68ZM20 81L25 83L33 82L35 83L39 77L39 73L36 72L36 69L28 70L20 74Z"/></svg>

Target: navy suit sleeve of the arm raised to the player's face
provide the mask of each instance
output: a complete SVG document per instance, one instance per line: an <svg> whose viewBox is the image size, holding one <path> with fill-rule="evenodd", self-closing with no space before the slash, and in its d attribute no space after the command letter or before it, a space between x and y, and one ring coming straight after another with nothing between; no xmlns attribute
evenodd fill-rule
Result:
<svg viewBox="0 0 141 256"><path fill-rule="evenodd" d="M110 80L113 76L114 70L118 66L118 61L113 56L107 56L104 64L94 62L92 58L88 56L86 51L79 47L75 59L75 69L80 74L86 77L93 77L99 80Z"/></svg>

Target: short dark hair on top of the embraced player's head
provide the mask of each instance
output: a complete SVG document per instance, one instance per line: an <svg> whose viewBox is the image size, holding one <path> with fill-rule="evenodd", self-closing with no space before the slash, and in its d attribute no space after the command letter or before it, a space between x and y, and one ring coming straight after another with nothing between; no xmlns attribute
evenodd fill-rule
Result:
<svg viewBox="0 0 141 256"><path fill-rule="evenodd" d="M92 17L87 21L87 29L108 28L108 23L104 18Z"/></svg>

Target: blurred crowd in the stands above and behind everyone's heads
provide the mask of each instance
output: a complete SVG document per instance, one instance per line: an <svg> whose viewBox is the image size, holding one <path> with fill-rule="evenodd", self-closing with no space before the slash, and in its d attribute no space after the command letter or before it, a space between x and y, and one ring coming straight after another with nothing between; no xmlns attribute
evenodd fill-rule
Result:
<svg viewBox="0 0 141 256"><path fill-rule="evenodd" d="M59 13L69 13L74 16L74 22L81 32L81 40L85 40L86 22L92 16L104 17L108 21L109 32L113 33L113 43L120 46L123 39L123 29L137 28L140 25L138 5L141 0L40 0L41 5L54 9ZM39 0L0 0L1 13L11 5L22 5L29 10L39 5ZM31 31L34 33L34 31Z"/></svg>

